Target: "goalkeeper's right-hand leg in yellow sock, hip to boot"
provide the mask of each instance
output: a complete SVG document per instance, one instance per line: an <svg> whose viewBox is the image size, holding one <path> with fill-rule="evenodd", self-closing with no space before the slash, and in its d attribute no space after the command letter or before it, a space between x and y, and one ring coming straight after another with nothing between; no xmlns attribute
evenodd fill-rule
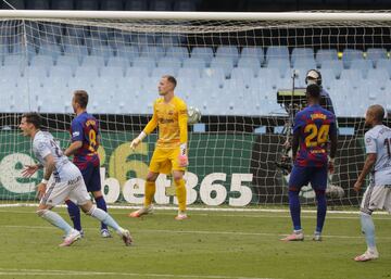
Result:
<svg viewBox="0 0 391 279"><path fill-rule="evenodd" d="M176 148L169 151L168 158L172 166L173 179L175 185L175 193L178 199L178 215L175 217L177 220L187 219L186 214L186 182L184 175L186 167L179 166L180 149Z"/></svg>

